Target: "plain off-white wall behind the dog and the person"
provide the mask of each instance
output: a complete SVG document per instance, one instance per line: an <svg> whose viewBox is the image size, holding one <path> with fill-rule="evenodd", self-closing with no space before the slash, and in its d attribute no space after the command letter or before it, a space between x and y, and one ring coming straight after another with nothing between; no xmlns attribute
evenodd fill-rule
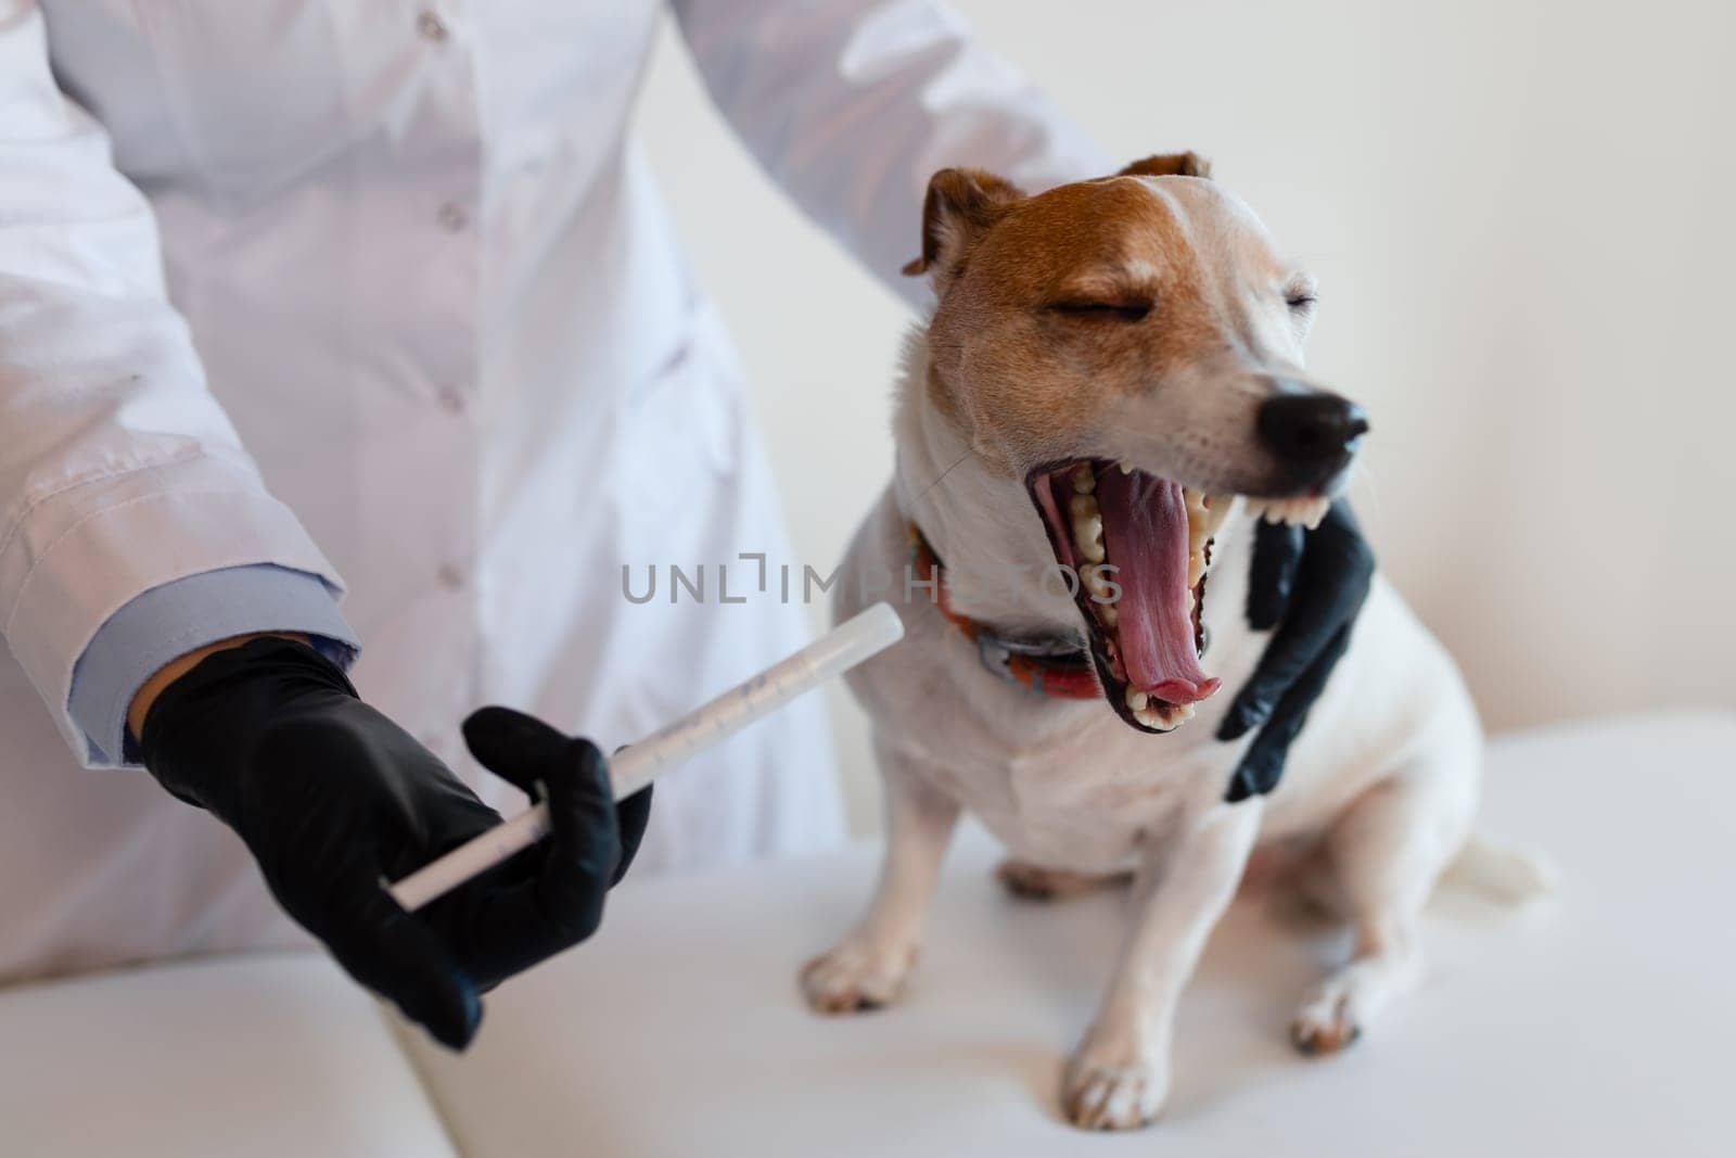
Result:
<svg viewBox="0 0 1736 1158"><path fill-rule="evenodd" d="M958 7L1116 156L1210 156L1319 276L1311 368L1375 425L1359 510L1491 726L1736 707L1736 5ZM753 168L670 35L641 125L797 550L830 569L889 472L906 314Z"/></svg>

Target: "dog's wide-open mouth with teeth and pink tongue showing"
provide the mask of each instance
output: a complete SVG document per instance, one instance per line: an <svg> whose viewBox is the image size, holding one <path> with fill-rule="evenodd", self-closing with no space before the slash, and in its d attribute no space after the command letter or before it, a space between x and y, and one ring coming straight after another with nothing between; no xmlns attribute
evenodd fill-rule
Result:
<svg viewBox="0 0 1736 1158"><path fill-rule="evenodd" d="M1104 458L1038 467L1026 488L1055 561L1078 576L1073 601L1109 705L1141 731L1175 731L1220 684L1200 667L1200 616L1213 536L1234 497ZM1325 500L1318 510L1302 502L1307 510L1274 503L1267 514L1318 521Z"/></svg>

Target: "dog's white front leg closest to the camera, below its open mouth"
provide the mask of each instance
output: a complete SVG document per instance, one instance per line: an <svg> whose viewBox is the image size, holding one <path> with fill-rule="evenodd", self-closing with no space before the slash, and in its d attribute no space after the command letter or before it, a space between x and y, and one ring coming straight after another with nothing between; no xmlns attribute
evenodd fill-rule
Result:
<svg viewBox="0 0 1736 1158"><path fill-rule="evenodd" d="M1236 894L1260 811L1260 799L1213 802L1146 854L1115 979L1066 1068L1062 1104L1075 1125L1128 1130L1163 1108L1175 1005Z"/></svg>

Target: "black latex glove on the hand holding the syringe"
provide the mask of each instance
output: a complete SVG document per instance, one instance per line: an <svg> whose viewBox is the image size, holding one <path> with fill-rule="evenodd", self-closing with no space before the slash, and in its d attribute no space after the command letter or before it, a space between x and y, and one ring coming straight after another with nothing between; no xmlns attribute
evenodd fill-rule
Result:
<svg viewBox="0 0 1736 1158"><path fill-rule="evenodd" d="M139 748L168 792L240 833L349 976L462 1049L479 993L597 929L651 813L649 788L616 807L602 753L533 717L483 708L464 738L549 800L550 835L413 915L385 884L500 814L312 648L267 637L207 656L151 705Z"/></svg>

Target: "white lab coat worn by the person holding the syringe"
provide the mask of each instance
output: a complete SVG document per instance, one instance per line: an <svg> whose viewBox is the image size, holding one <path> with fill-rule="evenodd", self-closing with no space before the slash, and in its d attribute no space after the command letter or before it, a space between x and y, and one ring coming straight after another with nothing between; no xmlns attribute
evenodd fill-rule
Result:
<svg viewBox="0 0 1736 1158"><path fill-rule="evenodd" d="M509 807L470 708L621 743L807 635L715 576L621 594L623 563L790 557L628 132L658 10L0 0L0 979L295 939L227 830L80 767L75 661L155 585L345 587L361 693ZM904 292L934 168L1101 170L937 5L674 12L767 170ZM670 776L637 872L837 840L828 743L811 700Z"/></svg>

